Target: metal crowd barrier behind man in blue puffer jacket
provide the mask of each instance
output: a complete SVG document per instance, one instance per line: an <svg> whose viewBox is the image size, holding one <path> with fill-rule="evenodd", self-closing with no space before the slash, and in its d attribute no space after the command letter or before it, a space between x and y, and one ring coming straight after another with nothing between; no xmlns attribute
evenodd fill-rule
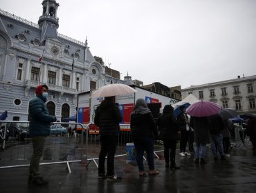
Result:
<svg viewBox="0 0 256 193"><path fill-rule="evenodd" d="M10 167L24 167L30 163L33 153L31 139L28 134L28 121L0 121L0 139L3 141L0 151L0 169ZM13 124L13 125L12 125ZM12 128L14 126L16 128ZM80 123L52 123L51 134L46 138L44 154L40 165L66 163L68 172L71 173L69 163L86 163L88 143L87 127ZM78 137L71 137L62 125L79 125L82 132ZM19 128L19 131L17 131ZM15 131L14 131L15 130ZM23 132L22 132L23 131ZM84 140L84 134L86 136ZM76 135L75 135L76 136Z"/></svg>

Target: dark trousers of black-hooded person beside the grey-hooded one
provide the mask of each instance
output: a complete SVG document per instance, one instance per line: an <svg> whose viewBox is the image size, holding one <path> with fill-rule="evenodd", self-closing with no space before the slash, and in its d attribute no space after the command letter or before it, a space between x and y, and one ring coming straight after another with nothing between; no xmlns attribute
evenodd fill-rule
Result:
<svg viewBox="0 0 256 193"><path fill-rule="evenodd" d="M171 165L175 165L175 152L176 152L177 140L163 139L163 146L165 148L164 150L165 163L169 164L169 162L171 161Z"/></svg>

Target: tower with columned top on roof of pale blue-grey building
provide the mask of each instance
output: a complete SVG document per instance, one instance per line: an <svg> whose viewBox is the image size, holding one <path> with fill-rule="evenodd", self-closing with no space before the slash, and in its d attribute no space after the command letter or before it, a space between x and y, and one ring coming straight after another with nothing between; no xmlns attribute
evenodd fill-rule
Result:
<svg viewBox="0 0 256 193"><path fill-rule="evenodd" d="M38 25L42 31L41 43L44 45L44 41L47 37L56 38L57 28L59 28L59 18L57 18L57 8L60 6L55 0L44 0L42 2L43 13L39 17Z"/></svg>

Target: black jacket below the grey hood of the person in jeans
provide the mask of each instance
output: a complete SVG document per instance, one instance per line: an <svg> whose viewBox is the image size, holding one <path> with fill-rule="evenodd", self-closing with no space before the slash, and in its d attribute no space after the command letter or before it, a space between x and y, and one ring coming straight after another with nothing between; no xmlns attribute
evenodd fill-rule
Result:
<svg viewBox="0 0 256 193"><path fill-rule="evenodd" d="M151 113L131 114L131 136L158 138L156 124Z"/></svg>

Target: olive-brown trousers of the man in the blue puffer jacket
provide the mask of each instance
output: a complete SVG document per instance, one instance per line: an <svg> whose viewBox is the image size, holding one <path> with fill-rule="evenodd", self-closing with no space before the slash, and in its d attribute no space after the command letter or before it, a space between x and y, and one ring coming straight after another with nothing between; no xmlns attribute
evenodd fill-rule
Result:
<svg viewBox="0 0 256 193"><path fill-rule="evenodd" d="M45 136L33 136L32 145L33 145L33 154L30 159L29 166L29 175L32 179L40 176L39 174L39 162L44 152L44 141Z"/></svg>

